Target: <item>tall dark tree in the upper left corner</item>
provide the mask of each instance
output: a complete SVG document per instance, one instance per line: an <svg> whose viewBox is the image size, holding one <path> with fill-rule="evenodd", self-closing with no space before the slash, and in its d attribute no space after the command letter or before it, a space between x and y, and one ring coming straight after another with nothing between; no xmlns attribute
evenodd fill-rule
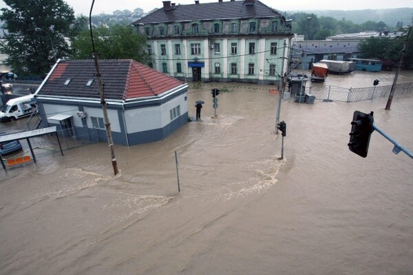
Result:
<svg viewBox="0 0 413 275"><path fill-rule="evenodd" d="M68 56L75 23L73 9L63 0L3 0L0 19L8 30L0 42L5 63L20 74L49 72L57 58Z"/></svg>

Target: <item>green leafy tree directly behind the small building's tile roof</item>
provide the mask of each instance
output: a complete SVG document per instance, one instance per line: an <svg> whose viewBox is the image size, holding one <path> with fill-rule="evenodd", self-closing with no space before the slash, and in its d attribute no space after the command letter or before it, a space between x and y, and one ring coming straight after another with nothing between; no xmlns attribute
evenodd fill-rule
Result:
<svg viewBox="0 0 413 275"><path fill-rule="evenodd" d="M115 25L112 28L93 29L94 45L98 58L131 58L140 63L148 61L145 52L146 36L137 34L130 26ZM90 31L85 30L72 41L74 59L92 58L92 40Z"/></svg>

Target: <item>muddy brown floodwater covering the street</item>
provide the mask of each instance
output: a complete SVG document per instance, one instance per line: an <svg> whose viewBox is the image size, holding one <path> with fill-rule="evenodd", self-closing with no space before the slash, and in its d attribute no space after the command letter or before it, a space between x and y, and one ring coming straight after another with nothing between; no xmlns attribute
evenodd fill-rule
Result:
<svg viewBox="0 0 413 275"><path fill-rule="evenodd" d="M324 85L391 85L392 76L330 75ZM399 76L407 82L413 72ZM229 90L216 119L214 87ZM273 88L190 89L189 115L204 100L202 120L160 142L115 146L116 177L104 142L1 169L0 274L412 274L413 159L377 132L366 159L347 144L353 112L374 111L413 151L413 95L395 96L390 111L387 98L283 100L279 159ZM56 149L52 137L32 142Z"/></svg>

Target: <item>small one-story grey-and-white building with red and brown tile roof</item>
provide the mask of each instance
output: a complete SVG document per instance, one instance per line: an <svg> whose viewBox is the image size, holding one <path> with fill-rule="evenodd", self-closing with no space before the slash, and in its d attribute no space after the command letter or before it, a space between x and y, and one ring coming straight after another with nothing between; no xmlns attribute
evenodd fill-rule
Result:
<svg viewBox="0 0 413 275"><path fill-rule="evenodd" d="M188 85L131 59L98 61L115 144L162 140L188 121ZM107 141L93 60L59 60L34 98L42 126Z"/></svg>

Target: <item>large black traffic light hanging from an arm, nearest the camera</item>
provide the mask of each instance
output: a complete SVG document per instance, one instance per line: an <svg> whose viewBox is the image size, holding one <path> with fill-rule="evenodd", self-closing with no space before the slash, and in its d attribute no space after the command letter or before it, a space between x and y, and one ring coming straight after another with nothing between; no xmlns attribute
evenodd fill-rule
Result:
<svg viewBox="0 0 413 275"><path fill-rule="evenodd" d="M370 114L354 111L351 122L350 142L348 148L361 157L367 157L368 144L373 129L373 112Z"/></svg>

